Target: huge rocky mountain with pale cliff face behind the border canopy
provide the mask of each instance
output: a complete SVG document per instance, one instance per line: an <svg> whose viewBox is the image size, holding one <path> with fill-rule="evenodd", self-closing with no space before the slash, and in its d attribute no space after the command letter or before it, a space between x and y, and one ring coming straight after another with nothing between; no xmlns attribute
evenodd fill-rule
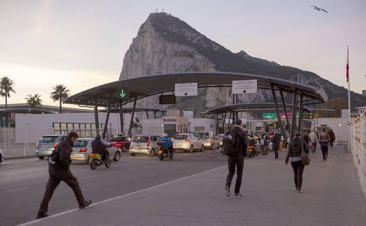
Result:
<svg viewBox="0 0 366 226"><path fill-rule="evenodd" d="M255 58L244 51L233 53L179 18L164 12L151 13L124 56L119 79L177 71L228 71L292 81L297 81L300 74L307 84L324 88L329 99L348 98L347 89L315 73ZM285 99L288 97L285 96ZM351 98L352 107L366 104L366 97L358 93L352 92ZM257 94L240 96L240 103L260 101L273 101L269 90L258 89ZM179 97L174 107L192 110L197 116L197 113L208 108L225 104L231 104L231 88L202 88L198 97ZM141 99L137 106L161 107L158 96ZM242 116L251 118L250 115Z"/></svg>

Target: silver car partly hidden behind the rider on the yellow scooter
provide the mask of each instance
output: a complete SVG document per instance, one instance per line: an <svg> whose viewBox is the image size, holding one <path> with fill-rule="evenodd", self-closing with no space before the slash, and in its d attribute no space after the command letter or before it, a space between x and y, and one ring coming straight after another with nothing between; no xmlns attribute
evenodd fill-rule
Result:
<svg viewBox="0 0 366 226"><path fill-rule="evenodd" d="M89 164L89 155L92 152L91 151L91 141L93 141L94 138L78 138L74 142L74 147L72 147L72 152L70 154L71 160L76 161L85 161L86 164ZM101 139L101 141L107 145L107 141L104 139ZM108 148L109 153L111 154L111 159L114 161L119 161L121 158L121 149L116 147L109 147Z"/></svg>

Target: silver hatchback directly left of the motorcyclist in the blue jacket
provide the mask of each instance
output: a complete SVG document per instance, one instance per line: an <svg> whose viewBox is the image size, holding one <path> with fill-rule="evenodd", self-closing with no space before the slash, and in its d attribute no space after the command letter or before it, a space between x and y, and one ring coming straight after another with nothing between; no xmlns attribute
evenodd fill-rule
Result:
<svg viewBox="0 0 366 226"><path fill-rule="evenodd" d="M136 154L147 154L153 157L158 153L159 146L156 141L161 140L161 136L157 135L139 135L134 136L131 141L130 155L136 156Z"/></svg>

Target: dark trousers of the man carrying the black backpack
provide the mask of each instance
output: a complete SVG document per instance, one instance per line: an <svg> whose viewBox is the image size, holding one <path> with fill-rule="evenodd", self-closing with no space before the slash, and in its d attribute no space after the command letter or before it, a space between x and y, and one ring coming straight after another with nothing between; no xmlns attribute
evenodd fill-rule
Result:
<svg viewBox="0 0 366 226"><path fill-rule="evenodd" d="M239 193L240 186L242 185L242 177L243 177L243 167L244 167L244 156L239 155L237 157L228 156L228 166L229 173L226 178L226 186L230 188L232 178L235 174L235 166L236 166L236 182L235 182L235 193Z"/></svg>

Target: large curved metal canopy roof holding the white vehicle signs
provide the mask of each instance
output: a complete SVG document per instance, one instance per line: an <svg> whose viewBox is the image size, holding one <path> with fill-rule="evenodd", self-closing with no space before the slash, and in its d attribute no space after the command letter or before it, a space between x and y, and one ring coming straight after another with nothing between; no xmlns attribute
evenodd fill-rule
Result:
<svg viewBox="0 0 366 226"><path fill-rule="evenodd" d="M135 97L141 99L144 97L171 92L175 89L176 83L197 82L199 88L204 87L231 87L232 81L257 79L259 89L270 89L273 85L275 90L293 93L294 90L298 94L314 99L315 101L326 102L326 96L322 88L301 84L280 78L273 78L263 75L220 72L220 71L198 71L198 72L179 72L166 74L144 75L139 77L127 78L104 85L96 86L77 93L63 100L66 104L94 105L97 99L97 105L100 107L108 107L109 97L111 93L112 107L119 106L117 99L117 90L127 87L129 89L129 99L123 100L123 104L132 102Z"/></svg>

